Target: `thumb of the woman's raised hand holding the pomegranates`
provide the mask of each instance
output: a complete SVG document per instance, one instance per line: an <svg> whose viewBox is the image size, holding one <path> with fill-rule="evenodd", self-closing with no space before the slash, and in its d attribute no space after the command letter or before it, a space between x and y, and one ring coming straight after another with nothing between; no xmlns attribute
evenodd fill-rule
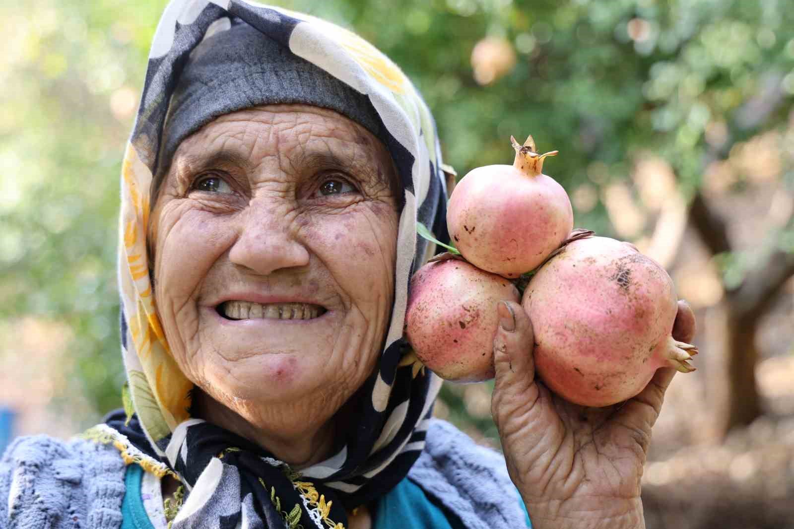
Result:
<svg viewBox="0 0 794 529"><path fill-rule="evenodd" d="M521 394L534 383L532 322L515 301L496 303L499 327L494 335L495 392Z"/></svg>

